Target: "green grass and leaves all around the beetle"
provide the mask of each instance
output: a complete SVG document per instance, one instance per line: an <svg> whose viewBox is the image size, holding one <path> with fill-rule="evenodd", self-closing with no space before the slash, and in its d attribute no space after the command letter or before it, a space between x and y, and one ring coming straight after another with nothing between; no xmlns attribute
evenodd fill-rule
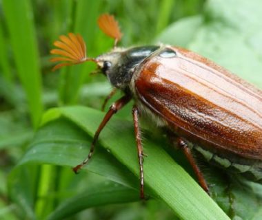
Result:
<svg viewBox="0 0 262 220"><path fill-rule="evenodd" d="M103 12L117 17L120 46L186 47L262 88L260 0L1 0L0 219L262 219L260 184L200 162L209 197L183 155L146 120L148 201L140 201L132 103L101 133L90 164L72 173L111 87L89 75L90 63L50 72L49 50L68 32L83 36L88 56L110 50L112 39L97 28Z"/></svg>

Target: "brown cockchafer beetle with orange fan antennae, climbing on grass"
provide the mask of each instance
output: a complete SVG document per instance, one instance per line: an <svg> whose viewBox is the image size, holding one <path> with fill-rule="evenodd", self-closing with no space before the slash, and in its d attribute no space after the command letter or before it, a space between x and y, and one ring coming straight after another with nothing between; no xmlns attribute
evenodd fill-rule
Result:
<svg viewBox="0 0 262 220"><path fill-rule="evenodd" d="M116 47L121 39L117 21L109 14L98 20L101 30L112 37L114 48L97 58L88 58L85 43L77 34L60 36L54 45L60 55L51 61L66 61L53 70L86 61L97 63L115 88L124 96L111 105L94 135L88 157L74 172L88 163L99 133L132 98L134 133L143 189L143 147L139 112L147 113L160 126L168 128L170 139L177 142L192 165L202 188L208 185L192 155L198 151L208 162L262 181L262 91L207 58L170 45ZM103 105L104 106L104 105ZM193 143L193 144L192 144Z"/></svg>

